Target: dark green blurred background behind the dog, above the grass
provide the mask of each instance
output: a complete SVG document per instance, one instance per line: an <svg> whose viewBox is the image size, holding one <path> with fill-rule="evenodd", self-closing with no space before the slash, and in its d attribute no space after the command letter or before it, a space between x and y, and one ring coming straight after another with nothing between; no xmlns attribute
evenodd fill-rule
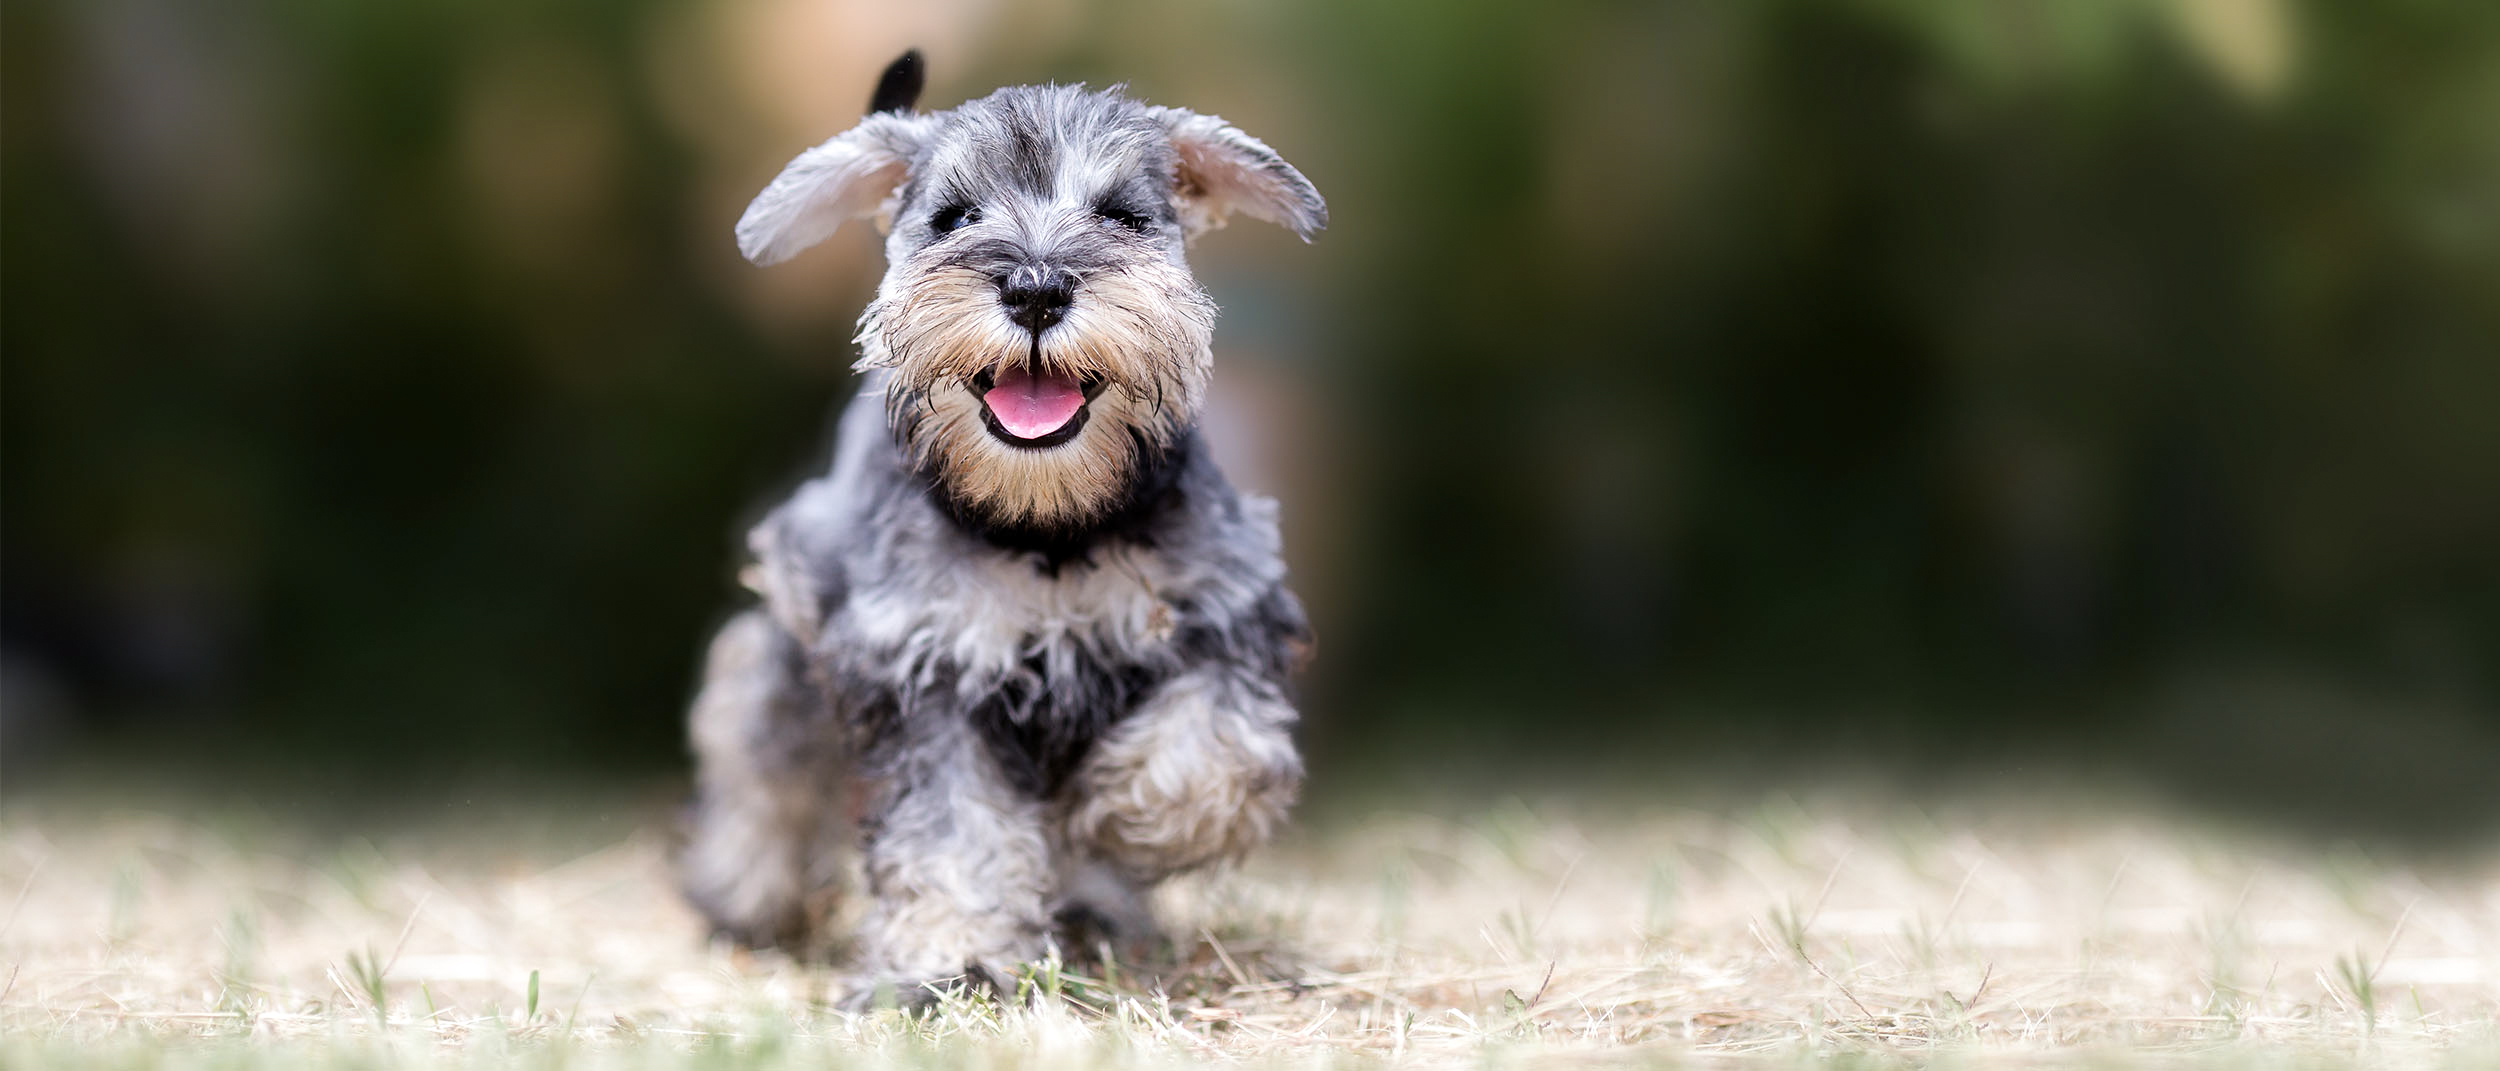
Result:
<svg viewBox="0 0 2500 1071"><path fill-rule="evenodd" d="M1200 243L1315 791L2500 816L2500 5L12 0L0 778L682 776L925 103L1270 140Z"/></svg>

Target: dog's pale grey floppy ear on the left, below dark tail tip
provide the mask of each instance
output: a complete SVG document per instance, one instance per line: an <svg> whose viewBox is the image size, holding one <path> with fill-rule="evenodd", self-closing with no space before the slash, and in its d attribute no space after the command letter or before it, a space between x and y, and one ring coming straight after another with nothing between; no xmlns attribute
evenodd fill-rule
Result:
<svg viewBox="0 0 2500 1071"><path fill-rule="evenodd" d="M902 185L928 115L875 113L800 153L738 218L738 253L775 265L872 215Z"/></svg>

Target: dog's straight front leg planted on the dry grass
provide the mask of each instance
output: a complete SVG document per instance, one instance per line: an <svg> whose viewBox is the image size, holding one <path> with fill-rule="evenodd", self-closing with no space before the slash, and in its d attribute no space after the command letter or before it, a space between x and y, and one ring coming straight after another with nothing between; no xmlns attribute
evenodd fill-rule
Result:
<svg viewBox="0 0 2500 1071"><path fill-rule="evenodd" d="M1050 931L1040 801L1008 783L955 711L902 713L872 748L870 776L878 796L862 861L872 903L852 1003L890 993L915 1006L952 983L1005 986L1015 966L1045 953Z"/></svg>

